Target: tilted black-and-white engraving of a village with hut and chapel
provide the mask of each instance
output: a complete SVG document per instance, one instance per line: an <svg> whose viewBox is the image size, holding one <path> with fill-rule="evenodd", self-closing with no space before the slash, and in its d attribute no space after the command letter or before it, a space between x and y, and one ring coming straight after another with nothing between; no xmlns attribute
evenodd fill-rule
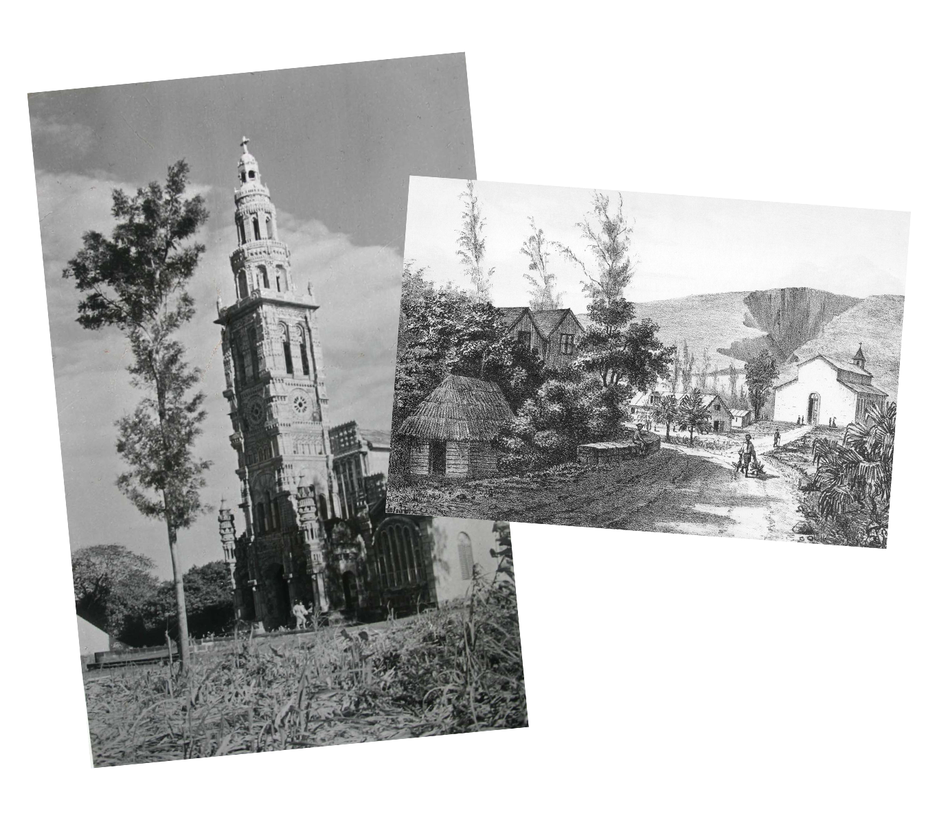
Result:
<svg viewBox="0 0 937 820"><path fill-rule="evenodd" d="M587 188L411 178L388 509L881 547L906 220Z"/></svg>

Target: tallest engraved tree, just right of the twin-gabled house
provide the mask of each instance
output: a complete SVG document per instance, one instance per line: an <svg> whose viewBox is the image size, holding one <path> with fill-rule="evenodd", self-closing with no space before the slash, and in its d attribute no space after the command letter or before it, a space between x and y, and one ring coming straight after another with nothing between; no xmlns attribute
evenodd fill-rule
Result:
<svg viewBox="0 0 937 820"><path fill-rule="evenodd" d="M609 210L609 199L596 193L592 213L597 225L588 217L577 222L594 260L590 269L568 246L553 243L569 261L583 272L583 292L588 297L590 320L586 335L579 343L576 366L587 373L597 373L602 387L614 387L621 381L636 390L647 390L663 378L673 362L675 350L665 348L657 337L660 327L653 321L633 321L634 306L624 295L632 280L630 227L622 211L618 195L617 211Z"/></svg>

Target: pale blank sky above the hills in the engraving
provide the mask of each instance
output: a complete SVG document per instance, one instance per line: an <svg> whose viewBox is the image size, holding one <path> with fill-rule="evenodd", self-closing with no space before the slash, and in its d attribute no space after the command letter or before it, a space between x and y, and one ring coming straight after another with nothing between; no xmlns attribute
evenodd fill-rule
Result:
<svg viewBox="0 0 937 820"><path fill-rule="evenodd" d="M580 186L548 184L549 178L483 176L476 184L486 220L486 267L494 267L492 301L522 306L528 258L521 244L531 234L528 217L547 240L587 258L575 227L590 211L593 177ZM439 282L468 287L456 258L466 183L414 176L410 180L405 256ZM607 193L610 193L606 191ZM611 193L617 197L617 194ZM623 193L632 221L629 286L635 302L693 293L810 287L850 296L911 293L910 213L775 205L650 193ZM563 306L585 312L581 272L558 254L547 261L564 292Z"/></svg>

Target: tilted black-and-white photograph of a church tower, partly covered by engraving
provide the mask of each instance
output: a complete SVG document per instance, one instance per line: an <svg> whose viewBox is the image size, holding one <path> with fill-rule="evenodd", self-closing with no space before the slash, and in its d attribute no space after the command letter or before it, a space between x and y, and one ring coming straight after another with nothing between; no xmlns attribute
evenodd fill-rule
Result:
<svg viewBox="0 0 937 820"><path fill-rule="evenodd" d="M527 723L509 522L385 499L460 66L27 104L97 767Z"/></svg>

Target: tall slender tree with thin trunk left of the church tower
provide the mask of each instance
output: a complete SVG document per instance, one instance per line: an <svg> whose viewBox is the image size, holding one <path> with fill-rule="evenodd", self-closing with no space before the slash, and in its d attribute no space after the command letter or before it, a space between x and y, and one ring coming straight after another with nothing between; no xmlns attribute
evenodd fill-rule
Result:
<svg viewBox="0 0 937 820"><path fill-rule="evenodd" d="M180 160L165 187L151 182L132 197L115 189L112 237L86 231L82 249L63 272L86 294L76 321L88 330L117 327L133 353L130 383L144 397L116 422L117 452L130 467L117 486L141 514L166 522L183 665L188 629L176 540L180 529L210 509L199 496L210 462L192 453L205 418L204 394L191 393L201 373L186 363L175 338L195 314L186 285L205 250L184 243L208 220L201 196L185 198L187 181L188 165Z"/></svg>

